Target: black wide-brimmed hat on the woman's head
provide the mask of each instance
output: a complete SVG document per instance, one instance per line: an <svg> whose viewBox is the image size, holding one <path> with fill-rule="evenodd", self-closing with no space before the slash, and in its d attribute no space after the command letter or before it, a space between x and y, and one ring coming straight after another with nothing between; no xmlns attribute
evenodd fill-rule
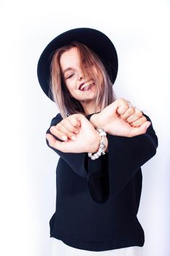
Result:
<svg viewBox="0 0 170 256"><path fill-rule="evenodd" d="M47 97L53 100L49 94L50 88L50 63L55 50L71 42L77 41L92 49L104 64L112 83L115 83L118 70L117 52L112 41L101 31L89 28L71 29L55 37L43 50L37 66L39 84Z"/></svg>

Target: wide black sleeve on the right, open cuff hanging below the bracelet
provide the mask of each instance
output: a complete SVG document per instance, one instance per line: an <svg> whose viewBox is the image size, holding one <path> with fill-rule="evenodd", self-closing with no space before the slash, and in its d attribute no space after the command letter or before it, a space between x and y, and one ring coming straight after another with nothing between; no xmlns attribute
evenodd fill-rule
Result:
<svg viewBox="0 0 170 256"><path fill-rule="evenodd" d="M147 121L151 121L147 115L143 115ZM107 139L108 152L99 157L101 170L93 171L92 160L88 164L88 189L98 203L105 203L121 192L136 171L156 154L158 147L152 122L143 135L127 138L107 134Z"/></svg>

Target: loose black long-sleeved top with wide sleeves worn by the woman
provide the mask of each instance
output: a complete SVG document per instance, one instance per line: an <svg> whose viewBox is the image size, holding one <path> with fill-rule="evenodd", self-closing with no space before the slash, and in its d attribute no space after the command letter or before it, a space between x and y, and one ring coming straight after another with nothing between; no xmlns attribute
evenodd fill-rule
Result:
<svg viewBox="0 0 170 256"><path fill-rule="evenodd" d="M50 127L61 120L58 113ZM144 135L125 138L107 134L107 139L108 152L96 160L88 153L58 151L46 139L47 146L60 156L50 237L78 249L104 251L144 244L144 230L136 217L141 167L155 155L158 138L151 123Z"/></svg>

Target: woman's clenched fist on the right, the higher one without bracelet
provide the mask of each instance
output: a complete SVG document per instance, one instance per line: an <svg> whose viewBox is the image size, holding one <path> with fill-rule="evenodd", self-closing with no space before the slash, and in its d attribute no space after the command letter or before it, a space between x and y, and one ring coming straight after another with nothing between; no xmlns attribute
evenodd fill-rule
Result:
<svg viewBox="0 0 170 256"><path fill-rule="evenodd" d="M150 121L142 111L129 105L123 98L115 100L100 113L94 114L90 121L94 127L104 128L111 135L134 137L144 134Z"/></svg>

